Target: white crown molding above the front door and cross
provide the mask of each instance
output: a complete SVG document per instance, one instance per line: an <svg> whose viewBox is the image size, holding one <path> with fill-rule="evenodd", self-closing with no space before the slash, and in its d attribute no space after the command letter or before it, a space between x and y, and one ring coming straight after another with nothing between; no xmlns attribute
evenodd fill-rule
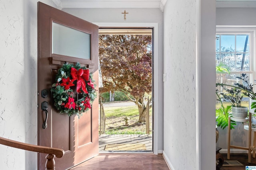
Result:
<svg viewBox="0 0 256 170"><path fill-rule="evenodd" d="M167 0L52 0L58 8L160 8Z"/></svg>

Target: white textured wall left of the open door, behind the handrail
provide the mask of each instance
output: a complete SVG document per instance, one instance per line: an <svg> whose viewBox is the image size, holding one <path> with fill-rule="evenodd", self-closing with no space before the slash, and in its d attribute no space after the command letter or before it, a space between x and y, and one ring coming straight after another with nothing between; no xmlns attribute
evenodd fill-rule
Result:
<svg viewBox="0 0 256 170"><path fill-rule="evenodd" d="M1 0L0 23L0 136L37 145L37 1ZM0 152L2 170L37 168L37 153Z"/></svg>

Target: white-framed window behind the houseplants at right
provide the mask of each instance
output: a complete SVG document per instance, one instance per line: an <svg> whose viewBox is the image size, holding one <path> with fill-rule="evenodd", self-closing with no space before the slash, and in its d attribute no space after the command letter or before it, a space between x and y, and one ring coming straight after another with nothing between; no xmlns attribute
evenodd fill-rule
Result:
<svg viewBox="0 0 256 170"><path fill-rule="evenodd" d="M241 81L236 78L241 74L248 74L250 82L255 80L255 55L254 55L254 32L253 29L245 28L218 28L216 31L216 66L226 64L230 74L216 73L216 82L234 85ZM217 87L218 90L222 87ZM244 96L242 106L249 106L249 98ZM219 104L216 104L216 108Z"/></svg>

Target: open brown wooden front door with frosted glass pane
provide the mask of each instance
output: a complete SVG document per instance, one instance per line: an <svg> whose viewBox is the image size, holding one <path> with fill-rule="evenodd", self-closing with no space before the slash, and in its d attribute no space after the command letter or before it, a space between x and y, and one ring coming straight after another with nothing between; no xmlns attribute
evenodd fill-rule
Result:
<svg viewBox="0 0 256 170"><path fill-rule="evenodd" d="M57 31L53 25L57 25ZM78 35L70 35L66 29ZM53 40L56 34L64 37L63 33L70 37L66 40ZM87 47L76 49L74 43L84 43L83 38L81 40L83 35L89 39L85 43ZM75 36L76 42L72 42ZM59 51L54 49L58 46L62 47ZM74 49L68 49L70 47ZM79 50L82 52L77 53ZM64 63L80 63L90 69L98 90L98 26L38 2L38 145L65 151L62 158L55 158L58 170L68 169L98 154L98 98L80 119L74 115L69 117L60 114L53 105L50 89L58 68ZM48 103L45 129L43 123L46 112L42 110L43 102ZM46 154L38 154L38 170L45 169L45 157Z"/></svg>

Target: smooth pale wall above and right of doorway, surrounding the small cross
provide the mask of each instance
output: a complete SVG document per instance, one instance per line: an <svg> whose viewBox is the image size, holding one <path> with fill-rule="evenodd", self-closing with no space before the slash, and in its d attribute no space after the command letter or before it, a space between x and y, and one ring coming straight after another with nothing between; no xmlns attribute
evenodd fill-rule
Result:
<svg viewBox="0 0 256 170"><path fill-rule="evenodd" d="M158 23L158 63L154 67L158 69L158 75L154 75L154 82L158 83L158 89L154 91L154 100L158 101L158 150L163 150L163 13L158 8L64 8L63 11L82 18L92 23ZM124 20L124 14L126 20ZM106 24L107 25L107 24ZM156 98L158 96L158 98Z"/></svg>

